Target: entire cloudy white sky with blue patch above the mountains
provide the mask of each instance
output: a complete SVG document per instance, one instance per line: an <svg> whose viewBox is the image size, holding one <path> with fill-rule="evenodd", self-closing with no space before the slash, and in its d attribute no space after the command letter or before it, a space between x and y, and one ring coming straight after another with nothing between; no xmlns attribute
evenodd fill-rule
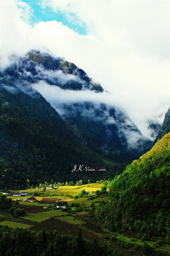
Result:
<svg viewBox="0 0 170 256"><path fill-rule="evenodd" d="M145 136L148 120L163 122L170 105L169 0L0 0L0 22L2 70L11 54L31 49L61 56L100 82Z"/></svg>

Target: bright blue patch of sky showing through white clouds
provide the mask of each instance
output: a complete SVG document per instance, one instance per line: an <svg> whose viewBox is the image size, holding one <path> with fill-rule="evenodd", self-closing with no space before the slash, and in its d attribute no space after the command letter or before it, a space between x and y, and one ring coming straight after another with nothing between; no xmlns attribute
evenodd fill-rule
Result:
<svg viewBox="0 0 170 256"><path fill-rule="evenodd" d="M22 0L22 2L27 2L28 0ZM39 2L39 1L38 1ZM70 13L69 15L74 17L71 21L65 13L62 13L60 10L55 12L52 10L52 8L46 6L45 8L42 8L42 1L41 5L30 5L31 9L33 10L33 16L31 17L30 24L33 26L35 23L38 23L40 21L47 22L56 20L57 22L62 22L64 26L68 26L75 32L77 32L80 35L86 35L86 26L83 22L77 22L75 20L75 15L73 13ZM18 5L19 8L21 8Z"/></svg>

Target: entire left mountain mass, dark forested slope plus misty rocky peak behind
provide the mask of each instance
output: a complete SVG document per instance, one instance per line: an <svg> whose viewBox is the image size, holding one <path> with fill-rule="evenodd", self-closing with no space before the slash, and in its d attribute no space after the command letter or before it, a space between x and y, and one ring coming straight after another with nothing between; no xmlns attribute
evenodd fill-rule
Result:
<svg viewBox="0 0 170 256"><path fill-rule="evenodd" d="M114 177L151 148L123 110L72 100L77 93L104 94L73 63L36 51L11 61L0 73L1 188ZM75 164L106 171L72 173Z"/></svg>

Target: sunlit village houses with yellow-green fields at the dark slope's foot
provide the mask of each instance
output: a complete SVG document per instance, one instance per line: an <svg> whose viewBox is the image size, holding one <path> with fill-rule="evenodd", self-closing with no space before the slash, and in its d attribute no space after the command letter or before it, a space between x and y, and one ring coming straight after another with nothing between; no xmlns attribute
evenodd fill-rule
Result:
<svg viewBox="0 0 170 256"><path fill-rule="evenodd" d="M33 188L26 189L25 191L13 191L13 190L5 190L2 192L3 195L11 198L15 203L31 203L34 205L43 205L44 209L65 209L68 206L68 202L78 199L78 193L81 193L81 189L83 189L83 196L95 195L95 191L97 187L102 187L103 184L98 184L97 187L92 188L90 185L83 186L58 186L54 187L52 185L43 186L41 188ZM93 191L91 191L93 189ZM99 190L98 190L99 191ZM65 195L66 194L66 195ZM46 204L46 205L45 205Z"/></svg>

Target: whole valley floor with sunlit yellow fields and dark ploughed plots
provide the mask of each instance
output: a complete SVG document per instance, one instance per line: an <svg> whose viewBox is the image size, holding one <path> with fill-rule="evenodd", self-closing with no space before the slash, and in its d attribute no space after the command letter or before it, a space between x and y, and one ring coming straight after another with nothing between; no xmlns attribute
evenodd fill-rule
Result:
<svg viewBox="0 0 170 256"><path fill-rule="evenodd" d="M84 239L90 241L95 239L98 243L107 244L113 250L117 249L125 255L130 255L130 250L134 248L140 250L143 246L143 242L147 242L154 250L167 251L170 249L166 244L158 246L155 241L142 241L133 236L125 236L122 233L111 232L94 222L94 219L91 217L92 208L95 208L96 211L101 202L109 201L107 195L108 189L102 195L95 194L95 191L101 190L103 186L103 183L92 183L81 186L62 186L57 189L45 191L41 189L26 190L29 195L40 193L40 196L36 196L36 202L19 201L19 204L14 204L16 208L26 210L27 215L20 218L13 218L9 215L7 210L1 209L0 225L30 229L32 231L45 230L47 232L53 232L57 230L60 235L71 235L74 237L77 237L81 229ZM79 195L82 190L85 190L87 193L92 192L92 194L87 194L78 199L70 197ZM11 198L13 202L17 200L13 195L8 196L8 198ZM20 197L19 200L25 198L26 197ZM57 200L67 201L68 207L66 207L66 209L68 208L69 210L65 211L65 209L62 208L54 210L54 203L51 202L56 202ZM50 206L49 209L45 208L47 205Z"/></svg>

